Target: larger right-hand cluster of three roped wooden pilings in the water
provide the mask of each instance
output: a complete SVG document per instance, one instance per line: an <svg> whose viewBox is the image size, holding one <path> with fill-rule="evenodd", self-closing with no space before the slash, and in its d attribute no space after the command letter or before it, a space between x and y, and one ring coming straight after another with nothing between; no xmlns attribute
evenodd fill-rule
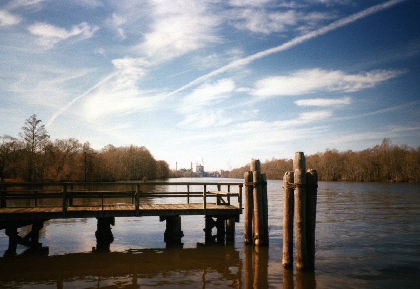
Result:
<svg viewBox="0 0 420 289"><path fill-rule="evenodd" d="M296 152L294 172L283 177L283 266L293 266L293 222L295 227L296 267L311 270L315 266L315 222L318 174L305 170L303 152Z"/></svg>

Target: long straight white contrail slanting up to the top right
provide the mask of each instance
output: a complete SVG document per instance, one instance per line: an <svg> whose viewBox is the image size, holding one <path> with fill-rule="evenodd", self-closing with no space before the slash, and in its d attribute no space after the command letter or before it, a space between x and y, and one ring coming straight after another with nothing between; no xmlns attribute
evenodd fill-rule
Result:
<svg viewBox="0 0 420 289"><path fill-rule="evenodd" d="M301 44L301 43L303 43L303 42L305 42L309 39L315 38L319 35L326 34L326 33L330 32L332 30L335 30L339 27L343 27L347 24L356 22L359 19L365 18L369 15L375 14L379 11L385 10L385 9L391 7L391 6L394 6L394 5L396 5L398 3L401 3L401 2L404 2L404 1L406 1L406 0L390 0L390 1L384 2L382 4L372 6L372 7L367 8L367 9L361 11L361 12L358 12L358 13L355 13L353 15L347 16L343 19L337 20L337 21L335 21L335 22L333 22L333 23L331 23L327 26L319 28L318 30L309 32L309 33L307 33L305 35L302 35L302 36L295 37L292 40L289 40L288 42L286 42L282 45L269 48L267 50L252 54L252 55L250 55L248 57L244 57L242 59L233 60L230 63L228 63L227 65L222 66L221 68L218 68L216 70L213 70L212 72L210 72L208 74L205 74L201 77L198 77L197 79L195 79L195 80L189 82L188 84L178 88L177 90L168 93L166 96L176 94L180 91L183 91L187 88L190 88L190 87L198 84L199 82L207 80L207 79L209 79L213 76L216 76L218 74L224 73L224 72L226 72L226 71L228 71L232 68L241 67L241 66L247 65L247 64L249 64L252 61L255 61L257 59L261 59L263 57L266 57L268 55L271 55L271 54L274 54L274 53L277 53L277 52L285 51L285 50L287 50L289 48L292 48L292 47L294 47L298 44Z"/></svg>

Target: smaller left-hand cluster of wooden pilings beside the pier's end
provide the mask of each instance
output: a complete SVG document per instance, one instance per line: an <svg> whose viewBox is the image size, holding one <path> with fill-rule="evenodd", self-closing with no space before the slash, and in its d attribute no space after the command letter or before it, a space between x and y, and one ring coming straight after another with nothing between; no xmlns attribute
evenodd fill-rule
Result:
<svg viewBox="0 0 420 289"><path fill-rule="evenodd" d="M245 208L244 238L245 244L256 246L268 245L268 201L267 177L261 173L259 159L252 159L250 171L244 175Z"/></svg>

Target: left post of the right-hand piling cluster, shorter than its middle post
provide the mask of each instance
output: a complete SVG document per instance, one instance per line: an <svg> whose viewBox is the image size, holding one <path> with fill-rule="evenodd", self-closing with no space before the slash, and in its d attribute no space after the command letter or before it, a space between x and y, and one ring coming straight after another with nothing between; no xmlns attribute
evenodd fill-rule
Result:
<svg viewBox="0 0 420 289"><path fill-rule="evenodd" d="M283 177L283 267L293 266L294 172ZM292 272L293 275L293 272Z"/></svg>

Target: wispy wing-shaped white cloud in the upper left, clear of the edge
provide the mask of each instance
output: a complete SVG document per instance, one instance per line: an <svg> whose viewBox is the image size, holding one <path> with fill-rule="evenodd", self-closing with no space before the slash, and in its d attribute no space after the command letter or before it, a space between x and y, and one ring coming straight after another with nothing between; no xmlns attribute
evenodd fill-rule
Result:
<svg viewBox="0 0 420 289"><path fill-rule="evenodd" d="M99 27L92 27L88 23L82 22L67 30L45 22L37 22L29 26L28 30L32 35L38 36L39 45L52 48L55 44L71 37L78 36L79 40L90 38L99 30Z"/></svg>

